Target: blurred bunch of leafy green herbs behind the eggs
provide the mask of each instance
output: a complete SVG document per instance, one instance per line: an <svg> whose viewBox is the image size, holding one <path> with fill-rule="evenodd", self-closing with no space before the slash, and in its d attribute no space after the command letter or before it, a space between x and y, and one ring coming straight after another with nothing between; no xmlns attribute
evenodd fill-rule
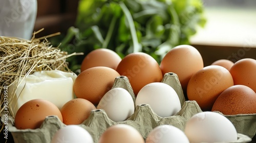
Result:
<svg viewBox="0 0 256 143"><path fill-rule="evenodd" d="M133 52L150 54L159 63L174 46L189 44L189 38L203 27L200 0L80 0L76 24L60 48L69 53L98 48L115 51L122 58ZM68 59L72 70L83 57Z"/></svg>

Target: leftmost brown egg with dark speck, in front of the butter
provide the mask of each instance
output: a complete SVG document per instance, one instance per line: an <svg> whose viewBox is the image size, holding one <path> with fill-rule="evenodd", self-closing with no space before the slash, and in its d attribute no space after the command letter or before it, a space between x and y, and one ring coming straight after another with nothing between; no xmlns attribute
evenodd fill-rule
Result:
<svg viewBox="0 0 256 143"><path fill-rule="evenodd" d="M14 126L17 129L37 129L40 128L46 116L50 115L57 115L62 122L62 115L56 105L43 99L30 100L18 109Z"/></svg>

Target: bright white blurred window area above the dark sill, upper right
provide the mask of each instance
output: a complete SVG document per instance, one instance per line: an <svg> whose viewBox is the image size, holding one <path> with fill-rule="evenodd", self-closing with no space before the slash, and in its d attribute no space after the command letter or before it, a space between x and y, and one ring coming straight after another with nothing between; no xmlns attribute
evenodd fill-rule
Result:
<svg viewBox="0 0 256 143"><path fill-rule="evenodd" d="M204 0L206 26L192 43L207 45L256 45L256 1Z"/></svg>

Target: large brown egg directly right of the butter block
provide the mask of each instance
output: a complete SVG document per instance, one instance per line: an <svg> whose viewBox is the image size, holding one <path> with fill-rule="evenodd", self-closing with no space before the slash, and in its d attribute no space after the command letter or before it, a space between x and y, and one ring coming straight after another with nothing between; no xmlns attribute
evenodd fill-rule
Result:
<svg viewBox="0 0 256 143"><path fill-rule="evenodd" d="M97 105L106 92L108 92L120 75L116 70L96 66L83 70L76 78L73 89L77 98L89 100Z"/></svg>

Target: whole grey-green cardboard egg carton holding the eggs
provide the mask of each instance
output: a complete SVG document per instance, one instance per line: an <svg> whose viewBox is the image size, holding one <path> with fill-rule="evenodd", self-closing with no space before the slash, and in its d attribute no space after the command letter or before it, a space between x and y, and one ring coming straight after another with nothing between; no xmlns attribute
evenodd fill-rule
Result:
<svg viewBox="0 0 256 143"><path fill-rule="evenodd" d="M136 107L134 114L127 120L122 122L112 121L102 109L92 110L90 116L82 124L78 125L86 129L97 143L100 135L110 126L115 124L127 124L136 128L143 138L159 125L173 125L182 131L185 129L186 122L191 116L196 113L202 112L201 108L196 101L185 101L184 94L175 73L167 73L162 80L172 86L177 92L180 102L182 103L181 110L168 117L158 116L150 107L150 105L142 104ZM121 87L130 92L134 103L135 95L133 93L129 79L124 76L115 79L112 88ZM235 142L250 142L251 138L255 135L256 115L225 115L233 123L238 131L238 140ZM13 118L10 117L8 131L12 133L15 143L50 143L53 135L62 127L63 124L57 116L47 116L44 123L38 129L24 129L20 130L14 127Z"/></svg>

